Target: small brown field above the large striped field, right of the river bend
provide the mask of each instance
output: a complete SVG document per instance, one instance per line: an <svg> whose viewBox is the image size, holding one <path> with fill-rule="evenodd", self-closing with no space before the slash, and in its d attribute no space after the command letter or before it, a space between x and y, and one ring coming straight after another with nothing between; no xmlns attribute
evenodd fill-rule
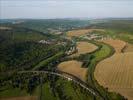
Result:
<svg viewBox="0 0 133 100"><path fill-rule="evenodd" d="M121 53L121 50L126 46L126 43L121 40L107 39L102 42L112 46L115 49L115 53Z"/></svg>

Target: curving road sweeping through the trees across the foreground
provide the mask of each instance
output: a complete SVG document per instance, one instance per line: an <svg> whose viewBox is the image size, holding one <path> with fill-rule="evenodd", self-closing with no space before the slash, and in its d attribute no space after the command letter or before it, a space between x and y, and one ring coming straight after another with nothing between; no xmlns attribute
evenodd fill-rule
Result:
<svg viewBox="0 0 133 100"><path fill-rule="evenodd" d="M95 91L93 88L89 87L85 82L83 82L83 81L79 80L77 77L70 75L68 73L65 73L65 72L44 70L44 71L19 71L18 73L19 74L23 74L23 73L52 74L52 75L60 76L67 80L73 81L74 83L80 85L82 88L86 89L92 95L103 99L103 97L101 97L97 91Z"/></svg>

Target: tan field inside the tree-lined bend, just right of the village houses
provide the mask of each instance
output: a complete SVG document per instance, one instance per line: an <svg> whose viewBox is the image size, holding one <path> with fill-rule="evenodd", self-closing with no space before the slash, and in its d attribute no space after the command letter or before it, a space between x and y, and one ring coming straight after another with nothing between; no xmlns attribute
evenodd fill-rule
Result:
<svg viewBox="0 0 133 100"><path fill-rule="evenodd" d="M80 54L93 52L97 49L97 46L88 42L77 42L77 49L78 49L78 52L76 52L71 56L79 56Z"/></svg>

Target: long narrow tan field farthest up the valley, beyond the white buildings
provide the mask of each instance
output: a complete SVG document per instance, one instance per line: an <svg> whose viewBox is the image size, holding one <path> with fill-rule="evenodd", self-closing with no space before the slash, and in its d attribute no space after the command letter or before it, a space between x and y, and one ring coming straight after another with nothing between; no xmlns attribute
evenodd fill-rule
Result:
<svg viewBox="0 0 133 100"><path fill-rule="evenodd" d="M68 31L67 32L67 36L68 37L73 37L73 36L81 36L81 35L85 35L88 32L92 32L92 31L104 31L103 29L81 29L81 30L72 30L72 31Z"/></svg>

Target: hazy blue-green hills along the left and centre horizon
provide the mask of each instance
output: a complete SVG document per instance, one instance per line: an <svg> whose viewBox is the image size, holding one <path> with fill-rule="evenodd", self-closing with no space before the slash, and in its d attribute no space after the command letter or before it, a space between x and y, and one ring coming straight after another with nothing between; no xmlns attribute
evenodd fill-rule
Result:
<svg viewBox="0 0 133 100"><path fill-rule="evenodd" d="M73 28L80 28L89 25L89 20L79 19L21 19L12 20L17 26L37 30L43 33L48 33L50 29L59 30L61 32L71 30Z"/></svg>

